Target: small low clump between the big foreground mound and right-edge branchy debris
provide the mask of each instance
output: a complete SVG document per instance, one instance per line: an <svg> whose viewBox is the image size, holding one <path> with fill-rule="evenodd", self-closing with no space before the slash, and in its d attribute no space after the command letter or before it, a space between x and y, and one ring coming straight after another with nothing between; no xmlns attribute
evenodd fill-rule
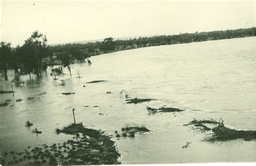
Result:
<svg viewBox="0 0 256 166"><path fill-rule="evenodd" d="M123 134L122 134L123 137L126 137L126 136L127 137L134 137L135 133L150 132L150 130L147 129L145 126L138 126L138 125L128 125L128 126L123 127L121 130L123 132Z"/></svg>

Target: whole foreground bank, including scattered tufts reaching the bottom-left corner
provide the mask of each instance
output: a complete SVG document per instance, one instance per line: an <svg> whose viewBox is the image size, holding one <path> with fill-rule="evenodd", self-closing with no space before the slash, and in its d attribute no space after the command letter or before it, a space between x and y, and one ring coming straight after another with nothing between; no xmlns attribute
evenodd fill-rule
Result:
<svg viewBox="0 0 256 166"><path fill-rule="evenodd" d="M71 134L75 139L48 146L28 147L22 152L4 152L3 165L57 165L57 164L120 164L114 142L102 131L87 129L82 123L72 124L56 132Z"/></svg>

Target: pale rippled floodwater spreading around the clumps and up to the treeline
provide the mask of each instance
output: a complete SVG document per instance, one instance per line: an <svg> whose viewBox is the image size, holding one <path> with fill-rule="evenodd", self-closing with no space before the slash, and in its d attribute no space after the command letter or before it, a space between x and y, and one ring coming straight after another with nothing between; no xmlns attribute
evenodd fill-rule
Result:
<svg viewBox="0 0 256 166"><path fill-rule="evenodd" d="M41 79L29 80L25 75L25 86L14 86L14 97L0 95L0 103L11 99L10 105L14 105L0 107L0 148L22 151L70 139L69 135L57 135L55 129L73 122L75 108L77 122L109 135L116 130L121 133L129 124L145 125L152 131L133 139L112 139L122 164L255 162L256 141L204 142L204 133L183 126L194 118L221 118L227 127L256 130L255 45L256 37L248 37L147 47L95 56L90 66L73 64L71 79L67 69L58 80L53 80L50 70ZM65 86L60 86L60 80ZM93 80L107 82L85 84ZM2 79L0 84L4 90L10 89L10 81ZM119 95L122 89L131 98L156 101L126 104ZM146 106L164 105L185 111L147 114ZM34 124L30 129L25 128L27 120ZM35 127L43 133L32 134ZM186 142L192 143L183 149Z"/></svg>

